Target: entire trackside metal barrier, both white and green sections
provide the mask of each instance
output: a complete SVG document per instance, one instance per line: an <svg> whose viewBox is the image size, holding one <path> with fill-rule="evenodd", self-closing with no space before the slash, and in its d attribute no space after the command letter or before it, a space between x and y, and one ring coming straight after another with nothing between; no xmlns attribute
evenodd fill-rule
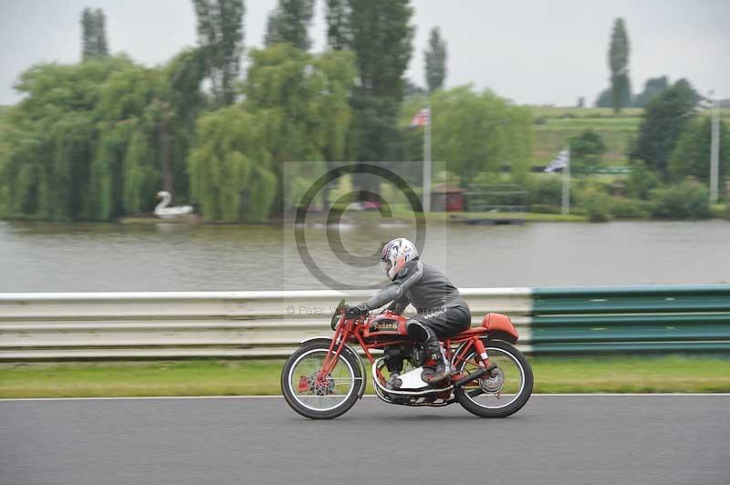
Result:
<svg viewBox="0 0 730 485"><path fill-rule="evenodd" d="M730 350L730 285L466 288L473 325L510 315L531 354ZM0 294L0 360L287 356L330 335L337 291Z"/></svg>

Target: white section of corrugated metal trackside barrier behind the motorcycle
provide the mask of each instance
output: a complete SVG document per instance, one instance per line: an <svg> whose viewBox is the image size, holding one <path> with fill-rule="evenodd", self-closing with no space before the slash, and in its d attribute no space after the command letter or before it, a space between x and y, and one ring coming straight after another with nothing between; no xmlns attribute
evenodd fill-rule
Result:
<svg viewBox="0 0 730 485"><path fill-rule="evenodd" d="M530 350L530 288L465 288L473 325L510 315ZM331 335L342 298L373 292L0 294L0 360L253 358L289 355Z"/></svg>

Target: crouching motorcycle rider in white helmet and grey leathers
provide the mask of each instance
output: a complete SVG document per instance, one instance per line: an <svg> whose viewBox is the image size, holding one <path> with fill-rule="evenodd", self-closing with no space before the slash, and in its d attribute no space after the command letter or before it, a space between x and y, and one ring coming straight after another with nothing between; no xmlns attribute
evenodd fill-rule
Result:
<svg viewBox="0 0 730 485"><path fill-rule="evenodd" d="M365 303L345 308L345 314L362 315L392 302L389 310L401 314L413 304L418 315L406 322L408 335L420 342L433 358L436 369L430 383L441 382L451 373L449 361L439 337L463 332L471 325L469 306L459 290L432 265L419 261L415 245L405 238L393 239L382 248L381 266L392 284L383 288ZM402 359L386 360L388 370L400 374Z"/></svg>

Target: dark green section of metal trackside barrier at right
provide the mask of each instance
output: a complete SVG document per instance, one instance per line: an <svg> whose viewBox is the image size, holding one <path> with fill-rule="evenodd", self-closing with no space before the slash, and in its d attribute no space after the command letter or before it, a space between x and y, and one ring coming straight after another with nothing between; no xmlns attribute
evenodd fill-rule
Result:
<svg viewBox="0 0 730 485"><path fill-rule="evenodd" d="M730 285L536 288L533 352L730 352Z"/></svg>

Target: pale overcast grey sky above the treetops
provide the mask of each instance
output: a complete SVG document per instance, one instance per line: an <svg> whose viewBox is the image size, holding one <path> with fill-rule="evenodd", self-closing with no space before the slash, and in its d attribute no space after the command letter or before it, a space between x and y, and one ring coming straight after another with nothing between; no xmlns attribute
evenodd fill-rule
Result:
<svg viewBox="0 0 730 485"><path fill-rule="evenodd" d="M276 0L246 0L245 45L262 46ZM310 29L325 47L324 0ZM17 77L39 62L75 63L84 7L107 16L112 52L148 66L195 45L190 0L0 0L0 105L14 104ZM687 77L702 94L730 98L730 0L412 0L413 53L406 76L423 86L423 50L433 26L447 42L446 88L472 83L517 104L592 105L608 87L607 50L626 20L634 93L649 77Z"/></svg>

